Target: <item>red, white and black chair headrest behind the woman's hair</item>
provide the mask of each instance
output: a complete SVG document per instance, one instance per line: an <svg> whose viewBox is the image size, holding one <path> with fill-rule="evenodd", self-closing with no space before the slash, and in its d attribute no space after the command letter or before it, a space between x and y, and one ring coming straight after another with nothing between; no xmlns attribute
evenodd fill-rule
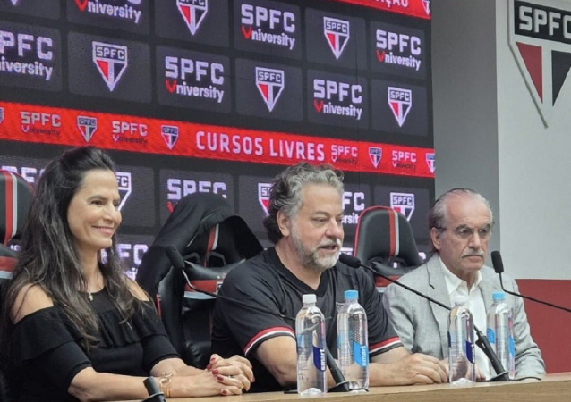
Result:
<svg viewBox="0 0 571 402"><path fill-rule="evenodd" d="M17 173L0 171L0 243L20 239L30 197L28 181Z"/></svg>

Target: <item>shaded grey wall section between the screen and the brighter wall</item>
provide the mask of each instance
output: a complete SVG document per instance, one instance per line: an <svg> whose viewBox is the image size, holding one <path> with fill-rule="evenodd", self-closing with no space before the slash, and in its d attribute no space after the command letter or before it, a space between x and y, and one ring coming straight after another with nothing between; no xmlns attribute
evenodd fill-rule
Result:
<svg viewBox="0 0 571 402"><path fill-rule="evenodd" d="M496 0L431 4L435 194L473 188L499 215ZM490 250L499 249L501 226Z"/></svg>

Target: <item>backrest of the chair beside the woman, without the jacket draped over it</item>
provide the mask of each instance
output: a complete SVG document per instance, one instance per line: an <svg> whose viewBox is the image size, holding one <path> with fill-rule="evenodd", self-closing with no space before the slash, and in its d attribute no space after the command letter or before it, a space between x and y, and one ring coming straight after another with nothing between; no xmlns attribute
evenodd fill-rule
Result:
<svg viewBox="0 0 571 402"><path fill-rule="evenodd" d="M220 222L183 250L184 272L192 286L217 293L226 274L244 257L236 244L233 218ZM161 318L186 364L204 368L211 355L215 297L193 290L183 272L170 270L158 285Z"/></svg>

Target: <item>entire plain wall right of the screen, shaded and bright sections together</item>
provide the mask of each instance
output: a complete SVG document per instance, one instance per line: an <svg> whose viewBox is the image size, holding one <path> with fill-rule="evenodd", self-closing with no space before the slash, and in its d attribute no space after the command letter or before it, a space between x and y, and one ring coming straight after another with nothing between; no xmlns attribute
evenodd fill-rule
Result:
<svg viewBox="0 0 571 402"><path fill-rule="evenodd" d="M490 200L490 250L512 276L571 279L571 76L545 128L507 26L507 0L432 2L436 195Z"/></svg>

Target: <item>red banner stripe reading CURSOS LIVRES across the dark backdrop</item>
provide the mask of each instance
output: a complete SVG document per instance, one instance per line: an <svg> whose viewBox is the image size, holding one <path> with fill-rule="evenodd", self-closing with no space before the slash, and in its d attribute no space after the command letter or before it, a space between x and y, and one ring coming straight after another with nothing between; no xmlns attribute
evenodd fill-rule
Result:
<svg viewBox="0 0 571 402"><path fill-rule="evenodd" d="M177 155L244 163L292 165L331 163L345 172L369 172L433 178L426 155L434 149L394 144L319 138L277 131L239 129L183 121L166 121L124 114L0 103L4 122L0 139L144 154ZM26 119L22 120L22 116ZM95 121L86 140L78 117ZM22 121L29 122L23 124ZM176 135L163 133L175 127Z"/></svg>

